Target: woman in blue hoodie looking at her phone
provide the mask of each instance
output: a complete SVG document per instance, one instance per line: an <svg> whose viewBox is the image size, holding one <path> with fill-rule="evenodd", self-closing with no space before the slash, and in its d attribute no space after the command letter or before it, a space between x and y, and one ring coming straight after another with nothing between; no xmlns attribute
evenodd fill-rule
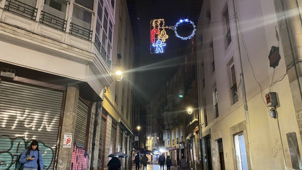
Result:
<svg viewBox="0 0 302 170"><path fill-rule="evenodd" d="M23 165L23 170L43 170L42 154L38 146L38 141L33 140L31 145L22 152L19 162ZM38 159L40 169L38 169Z"/></svg>

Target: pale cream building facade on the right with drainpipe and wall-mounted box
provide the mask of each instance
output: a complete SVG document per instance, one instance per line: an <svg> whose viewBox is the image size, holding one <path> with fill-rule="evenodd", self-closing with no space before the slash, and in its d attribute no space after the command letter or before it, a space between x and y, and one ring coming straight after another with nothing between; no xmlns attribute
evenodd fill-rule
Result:
<svg viewBox="0 0 302 170"><path fill-rule="evenodd" d="M196 36L203 169L302 168L298 5L203 1Z"/></svg>

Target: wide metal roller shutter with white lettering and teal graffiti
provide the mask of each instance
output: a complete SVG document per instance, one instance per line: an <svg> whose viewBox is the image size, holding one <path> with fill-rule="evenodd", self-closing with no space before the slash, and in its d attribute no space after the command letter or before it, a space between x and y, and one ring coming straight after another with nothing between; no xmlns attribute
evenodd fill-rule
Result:
<svg viewBox="0 0 302 170"><path fill-rule="evenodd" d="M16 169L32 140L46 169L53 169L63 92L24 83L0 82L1 168ZM17 167L16 167L17 166Z"/></svg>

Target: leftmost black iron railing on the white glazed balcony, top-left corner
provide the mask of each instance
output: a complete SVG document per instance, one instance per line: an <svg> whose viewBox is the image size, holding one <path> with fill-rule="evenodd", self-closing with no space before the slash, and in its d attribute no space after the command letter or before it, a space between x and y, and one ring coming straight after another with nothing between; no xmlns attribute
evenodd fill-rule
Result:
<svg viewBox="0 0 302 170"><path fill-rule="evenodd" d="M4 9L24 15L25 17L31 18L33 20L36 19L38 11L37 8L16 0L6 0Z"/></svg>

